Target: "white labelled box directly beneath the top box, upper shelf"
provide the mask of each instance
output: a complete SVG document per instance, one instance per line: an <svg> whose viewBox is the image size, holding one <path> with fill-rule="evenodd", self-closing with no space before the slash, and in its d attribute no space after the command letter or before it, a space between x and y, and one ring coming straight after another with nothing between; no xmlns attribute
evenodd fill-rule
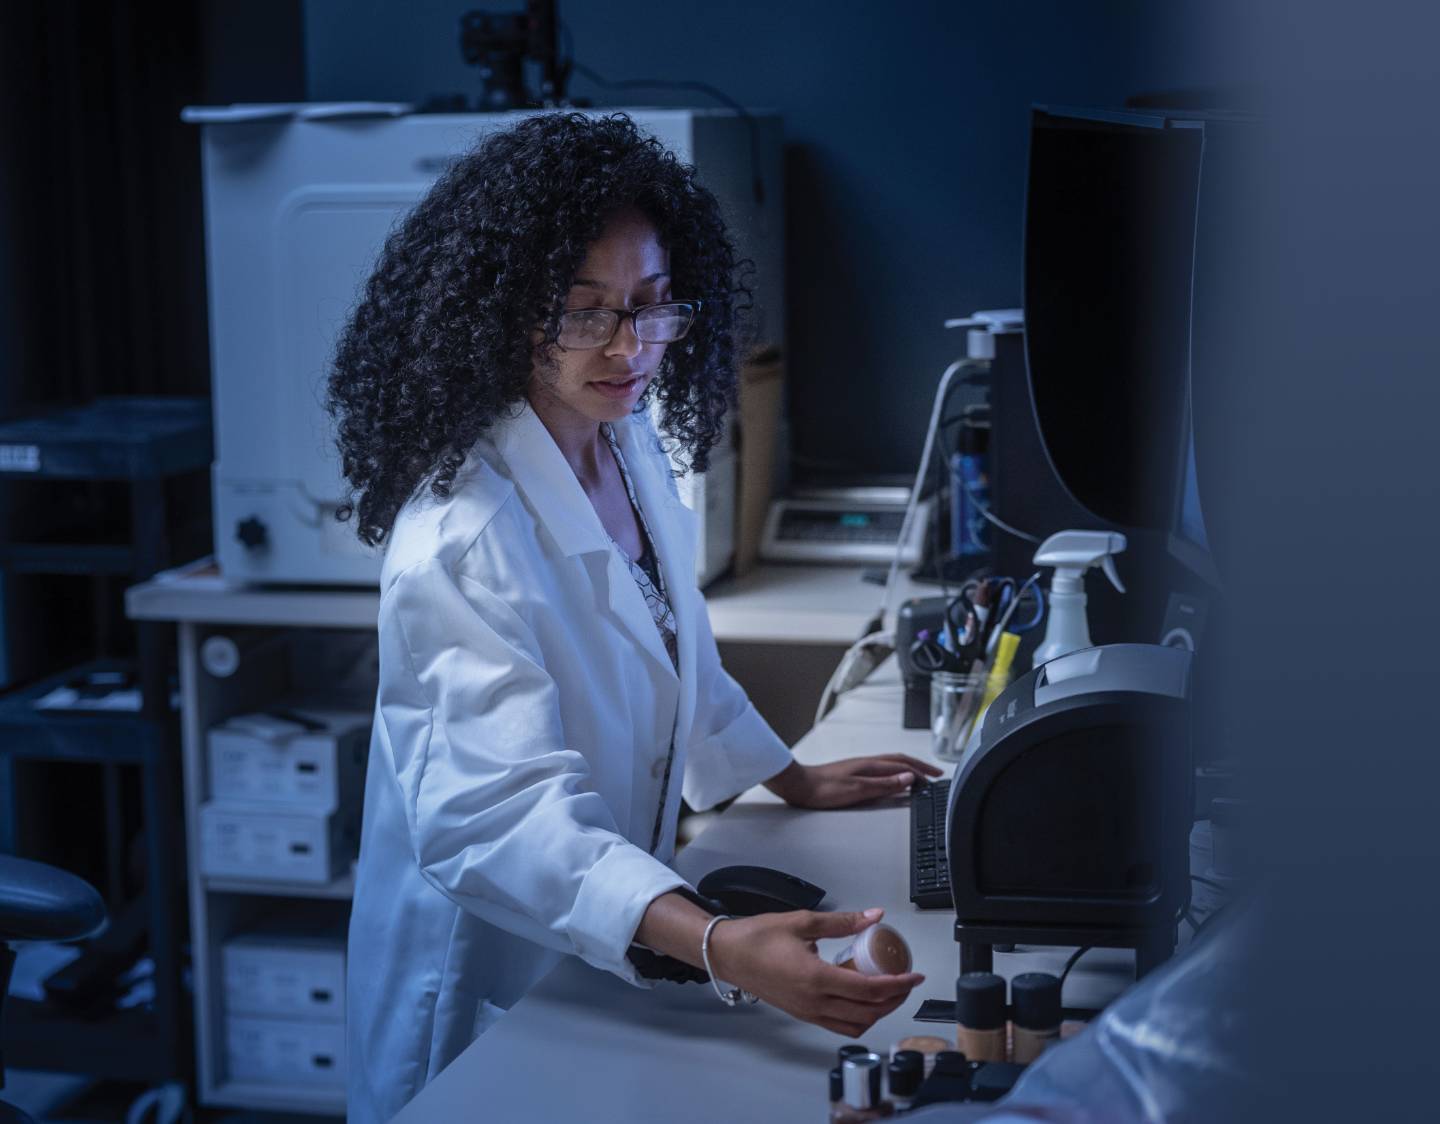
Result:
<svg viewBox="0 0 1440 1124"><path fill-rule="evenodd" d="M359 809L210 800L200 807L200 871L216 878L330 882L359 849Z"/></svg>

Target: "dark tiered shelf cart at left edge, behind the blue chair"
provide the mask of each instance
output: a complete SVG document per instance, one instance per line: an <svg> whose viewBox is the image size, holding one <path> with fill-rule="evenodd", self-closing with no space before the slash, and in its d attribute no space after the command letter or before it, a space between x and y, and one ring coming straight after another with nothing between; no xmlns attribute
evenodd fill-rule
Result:
<svg viewBox="0 0 1440 1124"><path fill-rule="evenodd" d="M10 573L121 576L145 580L171 564L173 512L167 481L204 471L212 459L206 399L99 399L89 406L0 425L0 485L33 481L122 482L128 512L105 512L79 528L102 541L73 541L60 528L36 541L0 543L0 568ZM128 534L122 525L128 515ZM112 518L114 517L114 518ZM99 535L95 532L99 531ZM121 541L121 537L124 541ZM179 538L183 541L184 534ZM184 914L180 908L181 840L176 715L170 704L168 630L137 629L137 659L99 659L0 697L0 851L14 851L19 793L14 763L68 761L101 767L105 776L107 851L112 869L112 912L144 908L154 1002L135 1009L75 1012L16 1000L4 1026L6 1061L14 1066L88 1074L127 1081L189 1081L189 1013L181 983ZM42 710L36 701L89 672L134 671L134 710ZM140 771L145 882L143 899L117 901L115 875L125 838L118 823L122 767ZM141 902L143 905L137 904Z"/></svg>

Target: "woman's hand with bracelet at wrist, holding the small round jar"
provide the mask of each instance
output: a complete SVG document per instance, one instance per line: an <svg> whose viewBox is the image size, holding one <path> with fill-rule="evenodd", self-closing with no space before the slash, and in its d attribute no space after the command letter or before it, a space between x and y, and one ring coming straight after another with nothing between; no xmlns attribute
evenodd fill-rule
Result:
<svg viewBox="0 0 1440 1124"><path fill-rule="evenodd" d="M716 974L796 1019L858 1038L899 1007L924 976L861 976L827 964L815 941L870 928L883 910L819 914L805 910L721 921L710 934Z"/></svg>

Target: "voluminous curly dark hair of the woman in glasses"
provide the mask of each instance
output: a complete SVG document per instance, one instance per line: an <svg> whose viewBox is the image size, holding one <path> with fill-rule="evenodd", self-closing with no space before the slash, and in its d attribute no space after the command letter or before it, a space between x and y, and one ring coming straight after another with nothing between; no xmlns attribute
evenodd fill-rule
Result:
<svg viewBox="0 0 1440 1124"><path fill-rule="evenodd" d="M704 471L734 396L749 289L720 206L628 117L543 114L487 137L390 233L343 330L327 407L360 538L379 545L428 482L449 495L467 450L552 354L575 272L606 222L638 209L670 252L677 298L703 299L645 399ZM544 341L537 347L533 332Z"/></svg>

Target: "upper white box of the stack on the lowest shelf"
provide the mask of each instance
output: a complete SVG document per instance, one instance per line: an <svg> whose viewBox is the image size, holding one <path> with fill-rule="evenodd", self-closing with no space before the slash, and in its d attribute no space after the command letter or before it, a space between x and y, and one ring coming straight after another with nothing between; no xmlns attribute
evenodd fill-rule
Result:
<svg viewBox="0 0 1440 1124"><path fill-rule="evenodd" d="M230 937L220 948L226 1015L344 1022L343 921L305 925L284 917Z"/></svg>

